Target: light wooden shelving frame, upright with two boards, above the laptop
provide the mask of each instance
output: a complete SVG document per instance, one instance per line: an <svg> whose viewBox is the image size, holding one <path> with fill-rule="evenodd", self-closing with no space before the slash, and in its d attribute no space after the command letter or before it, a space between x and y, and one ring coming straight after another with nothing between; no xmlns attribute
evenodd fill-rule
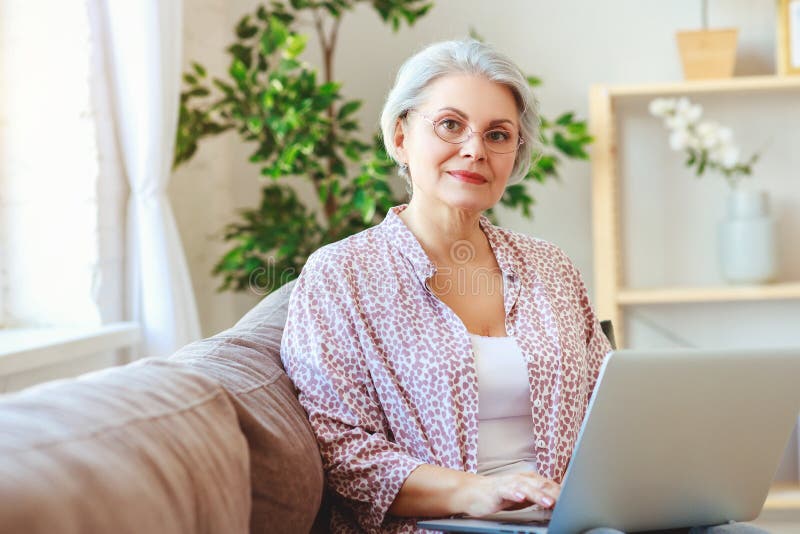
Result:
<svg viewBox="0 0 800 534"><path fill-rule="evenodd" d="M622 277L619 163L616 106L628 97L689 94L758 93L800 90L800 76L753 76L646 85L593 85L589 94L589 130L595 141L592 164L592 233L594 240L594 300L600 319L614 323L617 345L624 348L624 307L634 304L719 302L800 298L800 283L758 287L625 288Z"/></svg>

